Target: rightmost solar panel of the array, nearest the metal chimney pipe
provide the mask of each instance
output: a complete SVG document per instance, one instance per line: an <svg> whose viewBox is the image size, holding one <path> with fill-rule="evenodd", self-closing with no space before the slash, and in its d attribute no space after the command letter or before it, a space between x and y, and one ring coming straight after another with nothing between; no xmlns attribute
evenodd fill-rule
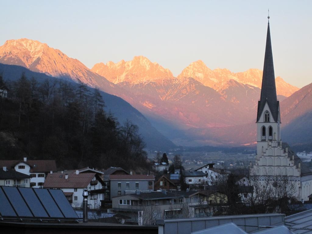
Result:
<svg viewBox="0 0 312 234"><path fill-rule="evenodd" d="M57 205L60 207L66 218L78 218L76 212L73 210L64 193L60 189L49 189L52 197L54 198Z"/></svg>

